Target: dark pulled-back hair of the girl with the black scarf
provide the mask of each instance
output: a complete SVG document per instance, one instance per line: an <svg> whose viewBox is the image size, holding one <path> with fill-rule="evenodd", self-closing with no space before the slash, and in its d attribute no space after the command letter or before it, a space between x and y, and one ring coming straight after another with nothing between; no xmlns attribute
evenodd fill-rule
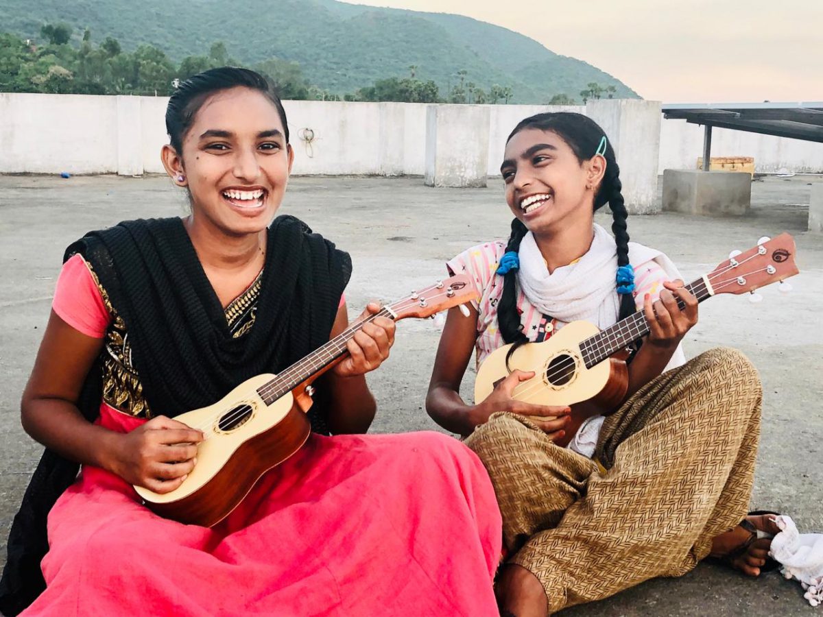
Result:
<svg viewBox="0 0 823 617"><path fill-rule="evenodd" d="M183 155L183 140L192 127L194 117L209 96L222 90L238 86L257 90L277 108L283 123L283 137L289 142L289 125L286 122L286 110L277 95L277 87L267 77L248 68L220 67L210 68L189 77L174 90L165 109L165 130L169 133L171 146L177 154Z"/></svg>

